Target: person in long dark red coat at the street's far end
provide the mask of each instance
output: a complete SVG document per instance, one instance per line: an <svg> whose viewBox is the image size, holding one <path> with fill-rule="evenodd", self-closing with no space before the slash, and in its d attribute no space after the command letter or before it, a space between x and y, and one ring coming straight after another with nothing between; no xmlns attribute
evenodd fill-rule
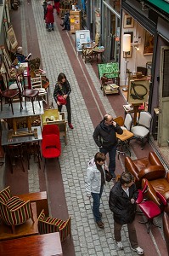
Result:
<svg viewBox="0 0 169 256"><path fill-rule="evenodd" d="M54 7L50 2L47 2L47 8L45 10L45 22L49 32L54 30Z"/></svg>

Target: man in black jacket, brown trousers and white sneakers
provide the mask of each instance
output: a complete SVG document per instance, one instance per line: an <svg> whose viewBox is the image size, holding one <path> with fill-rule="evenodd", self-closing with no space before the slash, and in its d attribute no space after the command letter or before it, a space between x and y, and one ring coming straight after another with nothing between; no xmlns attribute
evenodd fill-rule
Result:
<svg viewBox="0 0 169 256"><path fill-rule="evenodd" d="M138 239L134 226L134 218L136 213L136 200L138 198L138 190L133 183L133 177L130 172L123 172L120 181L115 183L110 190L110 210L114 216L114 236L117 246L122 250L121 228L123 224L127 224L129 240L132 250L143 255L144 250L138 247Z"/></svg>

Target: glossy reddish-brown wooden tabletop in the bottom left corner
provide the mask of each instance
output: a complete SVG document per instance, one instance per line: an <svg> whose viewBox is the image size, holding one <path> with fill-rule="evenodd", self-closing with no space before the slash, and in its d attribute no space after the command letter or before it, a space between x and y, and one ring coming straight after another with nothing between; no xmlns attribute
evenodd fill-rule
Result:
<svg viewBox="0 0 169 256"><path fill-rule="evenodd" d="M61 256L59 232L0 242L1 256Z"/></svg>

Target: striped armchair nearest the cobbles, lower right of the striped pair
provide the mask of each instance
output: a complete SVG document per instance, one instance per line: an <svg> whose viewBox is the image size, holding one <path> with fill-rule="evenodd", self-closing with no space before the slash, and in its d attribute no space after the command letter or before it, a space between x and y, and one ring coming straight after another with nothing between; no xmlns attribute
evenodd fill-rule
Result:
<svg viewBox="0 0 169 256"><path fill-rule="evenodd" d="M70 218L64 221L59 218L46 217L42 210L38 217L38 230L41 235L59 232L60 240L64 241L70 235Z"/></svg>

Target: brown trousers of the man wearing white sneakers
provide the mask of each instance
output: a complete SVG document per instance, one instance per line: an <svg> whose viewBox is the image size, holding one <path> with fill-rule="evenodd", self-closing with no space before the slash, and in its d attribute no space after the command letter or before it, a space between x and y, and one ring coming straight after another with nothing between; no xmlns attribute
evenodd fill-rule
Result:
<svg viewBox="0 0 169 256"><path fill-rule="evenodd" d="M121 241L121 228L122 224L118 224L114 221L114 236L115 236L115 241ZM134 221L132 223L127 224L127 229L128 229L128 236L129 240L131 243L132 248L137 248L138 247L138 238L136 235L136 229L134 226Z"/></svg>

